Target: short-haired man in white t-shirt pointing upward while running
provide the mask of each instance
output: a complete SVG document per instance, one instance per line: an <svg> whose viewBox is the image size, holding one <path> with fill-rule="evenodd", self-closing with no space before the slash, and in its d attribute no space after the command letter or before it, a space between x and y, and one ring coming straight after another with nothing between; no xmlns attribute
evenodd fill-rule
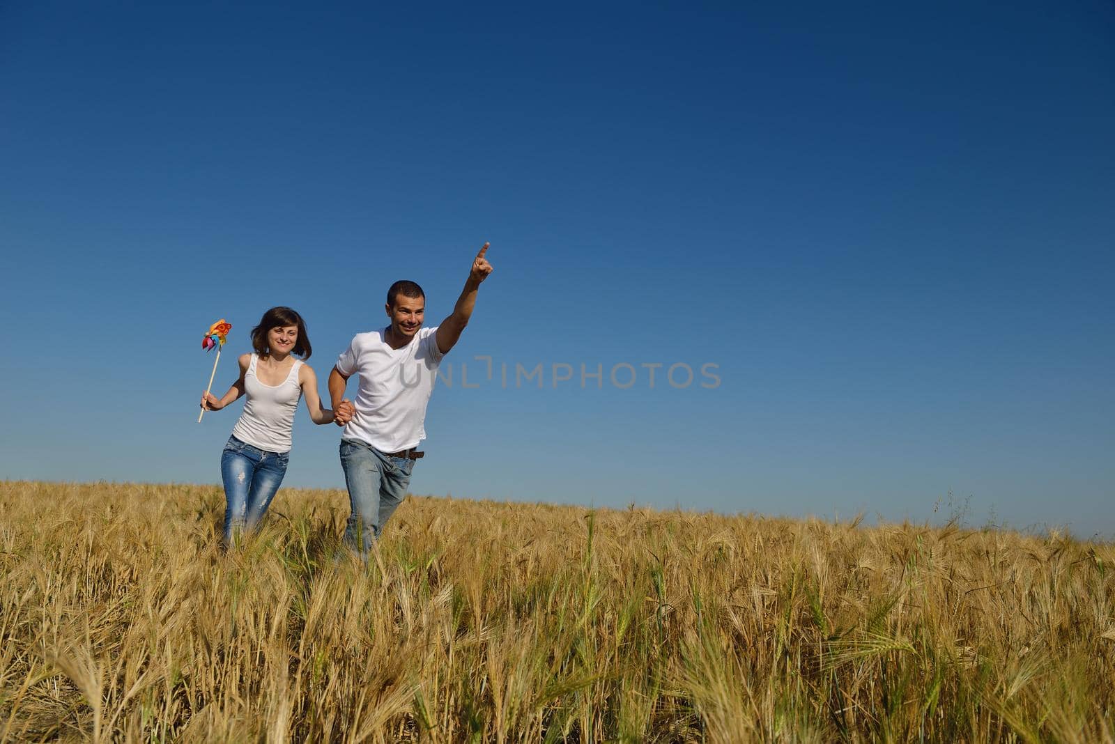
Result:
<svg viewBox="0 0 1115 744"><path fill-rule="evenodd" d="M434 392L442 358L468 325L476 292L492 273L485 243L473 261L468 281L453 314L440 325L423 327L426 295L414 282L399 281L387 292L390 325L359 333L329 373L329 395L341 434L341 467L352 512L345 539L367 559L371 541L403 502L410 484L415 450L426 431L426 404ZM356 404L345 399L345 388L360 375ZM342 400L343 399L343 400ZM358 539L359 538L359 539Z"/></svg>

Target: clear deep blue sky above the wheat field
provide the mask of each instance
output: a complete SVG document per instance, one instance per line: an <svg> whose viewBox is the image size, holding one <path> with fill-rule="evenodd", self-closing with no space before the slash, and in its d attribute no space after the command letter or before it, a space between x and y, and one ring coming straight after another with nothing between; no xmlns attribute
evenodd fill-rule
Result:
<svg viewBox="0 0 1115 744"><path fill-rule="evenodd" d="M0 477L215 483L210 323L491 241L417 493L1115 535L1115 9L900 6L4 3Z"/></svg>

